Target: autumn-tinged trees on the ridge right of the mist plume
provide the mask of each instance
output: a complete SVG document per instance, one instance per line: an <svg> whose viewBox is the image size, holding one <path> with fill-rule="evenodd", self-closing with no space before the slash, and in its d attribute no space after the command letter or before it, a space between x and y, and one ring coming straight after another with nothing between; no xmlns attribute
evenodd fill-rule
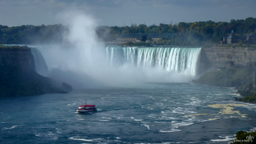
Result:
<svg viewBox="0 0 256 144"><path fill-rule="evenodd" d="M177 33L171 38L162 38L156 44L160 45L187 45L216 43L223 40L234 30L238 36L256 33L256 18L231 19L230 22L179 22L177 25L131 25L130 27L109 27L109 33L118 36L122 33Z"/></svg>

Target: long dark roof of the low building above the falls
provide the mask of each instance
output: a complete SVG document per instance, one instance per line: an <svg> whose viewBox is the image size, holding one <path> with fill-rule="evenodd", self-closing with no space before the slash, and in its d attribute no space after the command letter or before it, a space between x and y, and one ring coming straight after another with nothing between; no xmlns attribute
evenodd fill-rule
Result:
<svg viewBox="0 0 256 144"><path fill-rule="evenodd" d="M124 33L116 38L140 38L141 36L150 36L151 38L170 37L177 33Z"/></svg>

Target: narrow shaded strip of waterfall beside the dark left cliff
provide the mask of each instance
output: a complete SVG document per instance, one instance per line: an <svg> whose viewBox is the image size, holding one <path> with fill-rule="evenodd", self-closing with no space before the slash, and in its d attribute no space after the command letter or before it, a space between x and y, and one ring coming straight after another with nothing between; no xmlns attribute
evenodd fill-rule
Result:
<svg viewBox="0 0 256 144"><path fill-rule="evenodd" d="M48 67L45 62L45 58L41 54L41 52L36 47L31 47L31 53L34 58L34 69L35 71L42 76L48 75Z"/></svg>

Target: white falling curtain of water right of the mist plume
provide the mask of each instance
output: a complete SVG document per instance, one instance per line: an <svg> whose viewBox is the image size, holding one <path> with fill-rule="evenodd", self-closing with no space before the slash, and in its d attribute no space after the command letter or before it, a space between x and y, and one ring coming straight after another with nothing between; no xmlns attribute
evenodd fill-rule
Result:
<svg viewBox="0 0 256 144"><path fill-rule="evenodd" d="M191 76L197 75L200 52L200 47L106 47L112 66L157 67Z"/></svg>

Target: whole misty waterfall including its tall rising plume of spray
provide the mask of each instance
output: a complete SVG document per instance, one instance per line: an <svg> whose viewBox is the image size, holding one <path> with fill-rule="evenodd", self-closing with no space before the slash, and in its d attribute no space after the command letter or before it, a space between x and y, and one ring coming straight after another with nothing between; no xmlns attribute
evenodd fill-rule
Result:
<svg viewBox="0 0 256 144"><path fill-rule="evenodd" d="M106 47L97 37L93 17L67 11L60 18L68 29L64 43L39 50L48 76L74 88L189 82L197 74L201 48Z"/></svg>

